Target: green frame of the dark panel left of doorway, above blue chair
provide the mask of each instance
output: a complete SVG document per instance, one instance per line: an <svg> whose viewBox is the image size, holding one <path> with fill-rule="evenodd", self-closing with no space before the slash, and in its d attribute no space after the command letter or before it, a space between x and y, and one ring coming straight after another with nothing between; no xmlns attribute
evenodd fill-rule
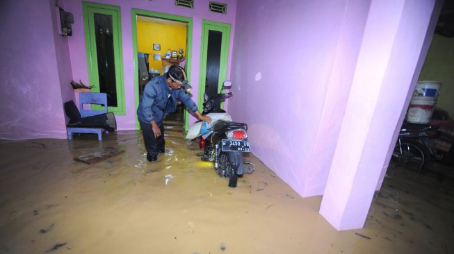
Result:
<svg viewBox="0 0 454 254"><path fill-rule="evenodd" d="M102 3L82 2L83 10L83 27L85 31L85 42L87 52L87 66L89 84L94 86L92 92L99 92L99 74L98 60L96 49L96 38L94 32L94 15L100 13L112 16L113 25L113 53L115 58L115 87L117 91L117 107L108 107L108 111L114 112L116 115L124 115L124 80L123 80L123 51L122 51L122 26L121 14L119 6L111 6ZM94 108L101 108L93 105Z"/></svg>

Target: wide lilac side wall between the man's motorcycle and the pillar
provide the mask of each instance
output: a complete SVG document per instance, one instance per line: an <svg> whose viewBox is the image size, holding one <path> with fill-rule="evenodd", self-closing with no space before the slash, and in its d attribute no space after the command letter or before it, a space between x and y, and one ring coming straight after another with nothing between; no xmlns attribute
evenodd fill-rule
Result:
<svg viewBox="0 0 454 254"><path fill-rule="evenodd" d="M238 2L229 112L301 196L323 194L367 11L368 1Z"/></svg>

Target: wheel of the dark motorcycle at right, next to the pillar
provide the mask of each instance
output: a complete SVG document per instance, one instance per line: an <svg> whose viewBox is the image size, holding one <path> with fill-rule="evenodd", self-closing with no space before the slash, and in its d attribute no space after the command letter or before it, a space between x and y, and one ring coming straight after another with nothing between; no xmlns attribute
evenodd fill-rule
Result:
<svg viewBox="0 0 454 254"><path fill-rule="evenodd" d="M393 158L410 169L421 172L430 161L430 152L421 142L414 139L400 139L394 147Z"/></svg>

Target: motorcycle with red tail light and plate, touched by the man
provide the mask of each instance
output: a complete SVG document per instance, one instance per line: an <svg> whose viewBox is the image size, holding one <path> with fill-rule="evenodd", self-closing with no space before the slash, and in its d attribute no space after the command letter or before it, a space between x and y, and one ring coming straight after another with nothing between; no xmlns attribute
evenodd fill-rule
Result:
<svg viewBox="0 0 454 254"><path fill-rule="evenodd" d="M200 137L199 146L203 152L197 153L202 161L213 162L219 176L229 178L229 187L236 187L238 176L255 170L251 162L243 162L243 153L250 153L248 125L232 121L232 117L220 108L220 103L232 97L232 92L225 92L231 87L225 81L220 93L208 96L204 94L202 115L211 117L211 123L198 121L188 130L186 139Z"/></svg>

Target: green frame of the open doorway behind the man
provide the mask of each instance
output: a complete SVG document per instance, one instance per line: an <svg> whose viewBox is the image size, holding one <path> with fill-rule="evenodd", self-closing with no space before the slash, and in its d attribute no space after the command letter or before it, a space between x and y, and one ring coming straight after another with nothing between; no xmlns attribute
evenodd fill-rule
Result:
<svg viewBox="0 0 454 254"><path fill-rule="evenodd" d="M134 87L138 84L138 60L137 60L137 15L148 16L148 17L158 17L161 19L170 19L179 22L186 22L188 27L186 29L186 74L188 75L188 81L190 81L190 59L192 56L193 48L193 19L189 17L181 17L177 15L170 15L159 12L151 12L147 10L138 10L132 9L132 47L133 47L133 60L134 60ZM136 94L136 109L139 105L139 92L138 89L134 89L134 94ZM136 130L140 128L138 119L136 117ZM184 110L184 130L189 128L189 112Z"/></svg>

